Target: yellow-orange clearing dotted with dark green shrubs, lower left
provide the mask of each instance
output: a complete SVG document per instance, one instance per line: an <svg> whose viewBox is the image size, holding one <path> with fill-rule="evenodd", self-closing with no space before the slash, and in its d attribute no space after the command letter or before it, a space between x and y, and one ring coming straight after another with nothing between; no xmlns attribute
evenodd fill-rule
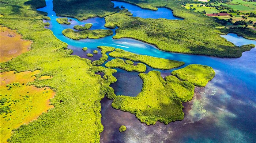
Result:
<svg viewBox="0 0 256 143"><path fill-rule="evenodd" d="M20 125L29 123L52 105L49 99L54 92L49 88L27 86L32 82L39 71L21 72L14 71L0 74L0 142L4 143L11 137L11 131Z"/></svg>

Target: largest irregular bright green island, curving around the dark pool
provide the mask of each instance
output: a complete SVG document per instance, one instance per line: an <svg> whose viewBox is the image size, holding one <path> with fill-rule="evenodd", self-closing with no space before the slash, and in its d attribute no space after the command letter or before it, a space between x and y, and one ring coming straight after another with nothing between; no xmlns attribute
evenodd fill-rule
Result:
<svg viewBox="0 0 256 143"><path fill-rule="evenodd" d="M135 114L140 122L147 125L157 121L168 124L184 118L181 101L192 99L193 84L174 76L166 76L165 81L159 71L141 73L139 76L143 80L142 91L136 97L116 96L113 108Z"/></svg>

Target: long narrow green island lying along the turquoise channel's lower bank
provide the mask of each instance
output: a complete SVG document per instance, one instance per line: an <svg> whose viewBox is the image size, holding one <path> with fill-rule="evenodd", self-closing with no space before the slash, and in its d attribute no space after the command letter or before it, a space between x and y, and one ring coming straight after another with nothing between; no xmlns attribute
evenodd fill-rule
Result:
<svg viewBox="0 0 256 143"><path fill-rule="evenodd" d="M171 69L171 68L177 68L181 65L184 65L184 62L176 61L176 60L169 60L169 59L163 59L159 57L152 57L152 56L146 56L146 55L137 55L135 53L124 51L123 49L116 49L114 52L109 53L109 56L111 57L119 57L124 58L128 60L133 61L140 61L152 68L155 69Z"/></svg>

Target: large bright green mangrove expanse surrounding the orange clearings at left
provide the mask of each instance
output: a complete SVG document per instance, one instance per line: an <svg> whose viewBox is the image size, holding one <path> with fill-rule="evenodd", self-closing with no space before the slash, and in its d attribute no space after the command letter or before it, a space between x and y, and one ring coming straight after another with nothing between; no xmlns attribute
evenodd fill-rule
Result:
<svg viewBox="0 0 256 143"><path fill-rule="evenodd" d="M108 75L111 80L105 80L94 75L90 60L70 55L72 50L67 49L67 44L44 28L44 15L40 14L43 12L35 10L45 6L44 0L12 0L0 5L0 12L4 13L1 25L17 29L23 39L33 41L30 51L0 63L0 71L40 69L37 77L53 78L36 79L30 84L50 87L56 92L50 100L54 108L14 130L10 142L99 142L99 133L103 131L100 100L112 91L108 81L113 82L114 77ZM114 97L113 92L110 94Z"/></svg>

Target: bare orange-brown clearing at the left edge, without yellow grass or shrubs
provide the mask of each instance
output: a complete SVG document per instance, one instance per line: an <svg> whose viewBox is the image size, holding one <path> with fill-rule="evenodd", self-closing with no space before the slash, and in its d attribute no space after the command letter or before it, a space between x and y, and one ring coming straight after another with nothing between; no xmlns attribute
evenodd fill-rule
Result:
<svg viewBox="0 0 256 143"><path fill-rule="evenodd" d="M21 35L6 27L0 27L0 62L29 51L31 41L22 40Z"/></svg>

